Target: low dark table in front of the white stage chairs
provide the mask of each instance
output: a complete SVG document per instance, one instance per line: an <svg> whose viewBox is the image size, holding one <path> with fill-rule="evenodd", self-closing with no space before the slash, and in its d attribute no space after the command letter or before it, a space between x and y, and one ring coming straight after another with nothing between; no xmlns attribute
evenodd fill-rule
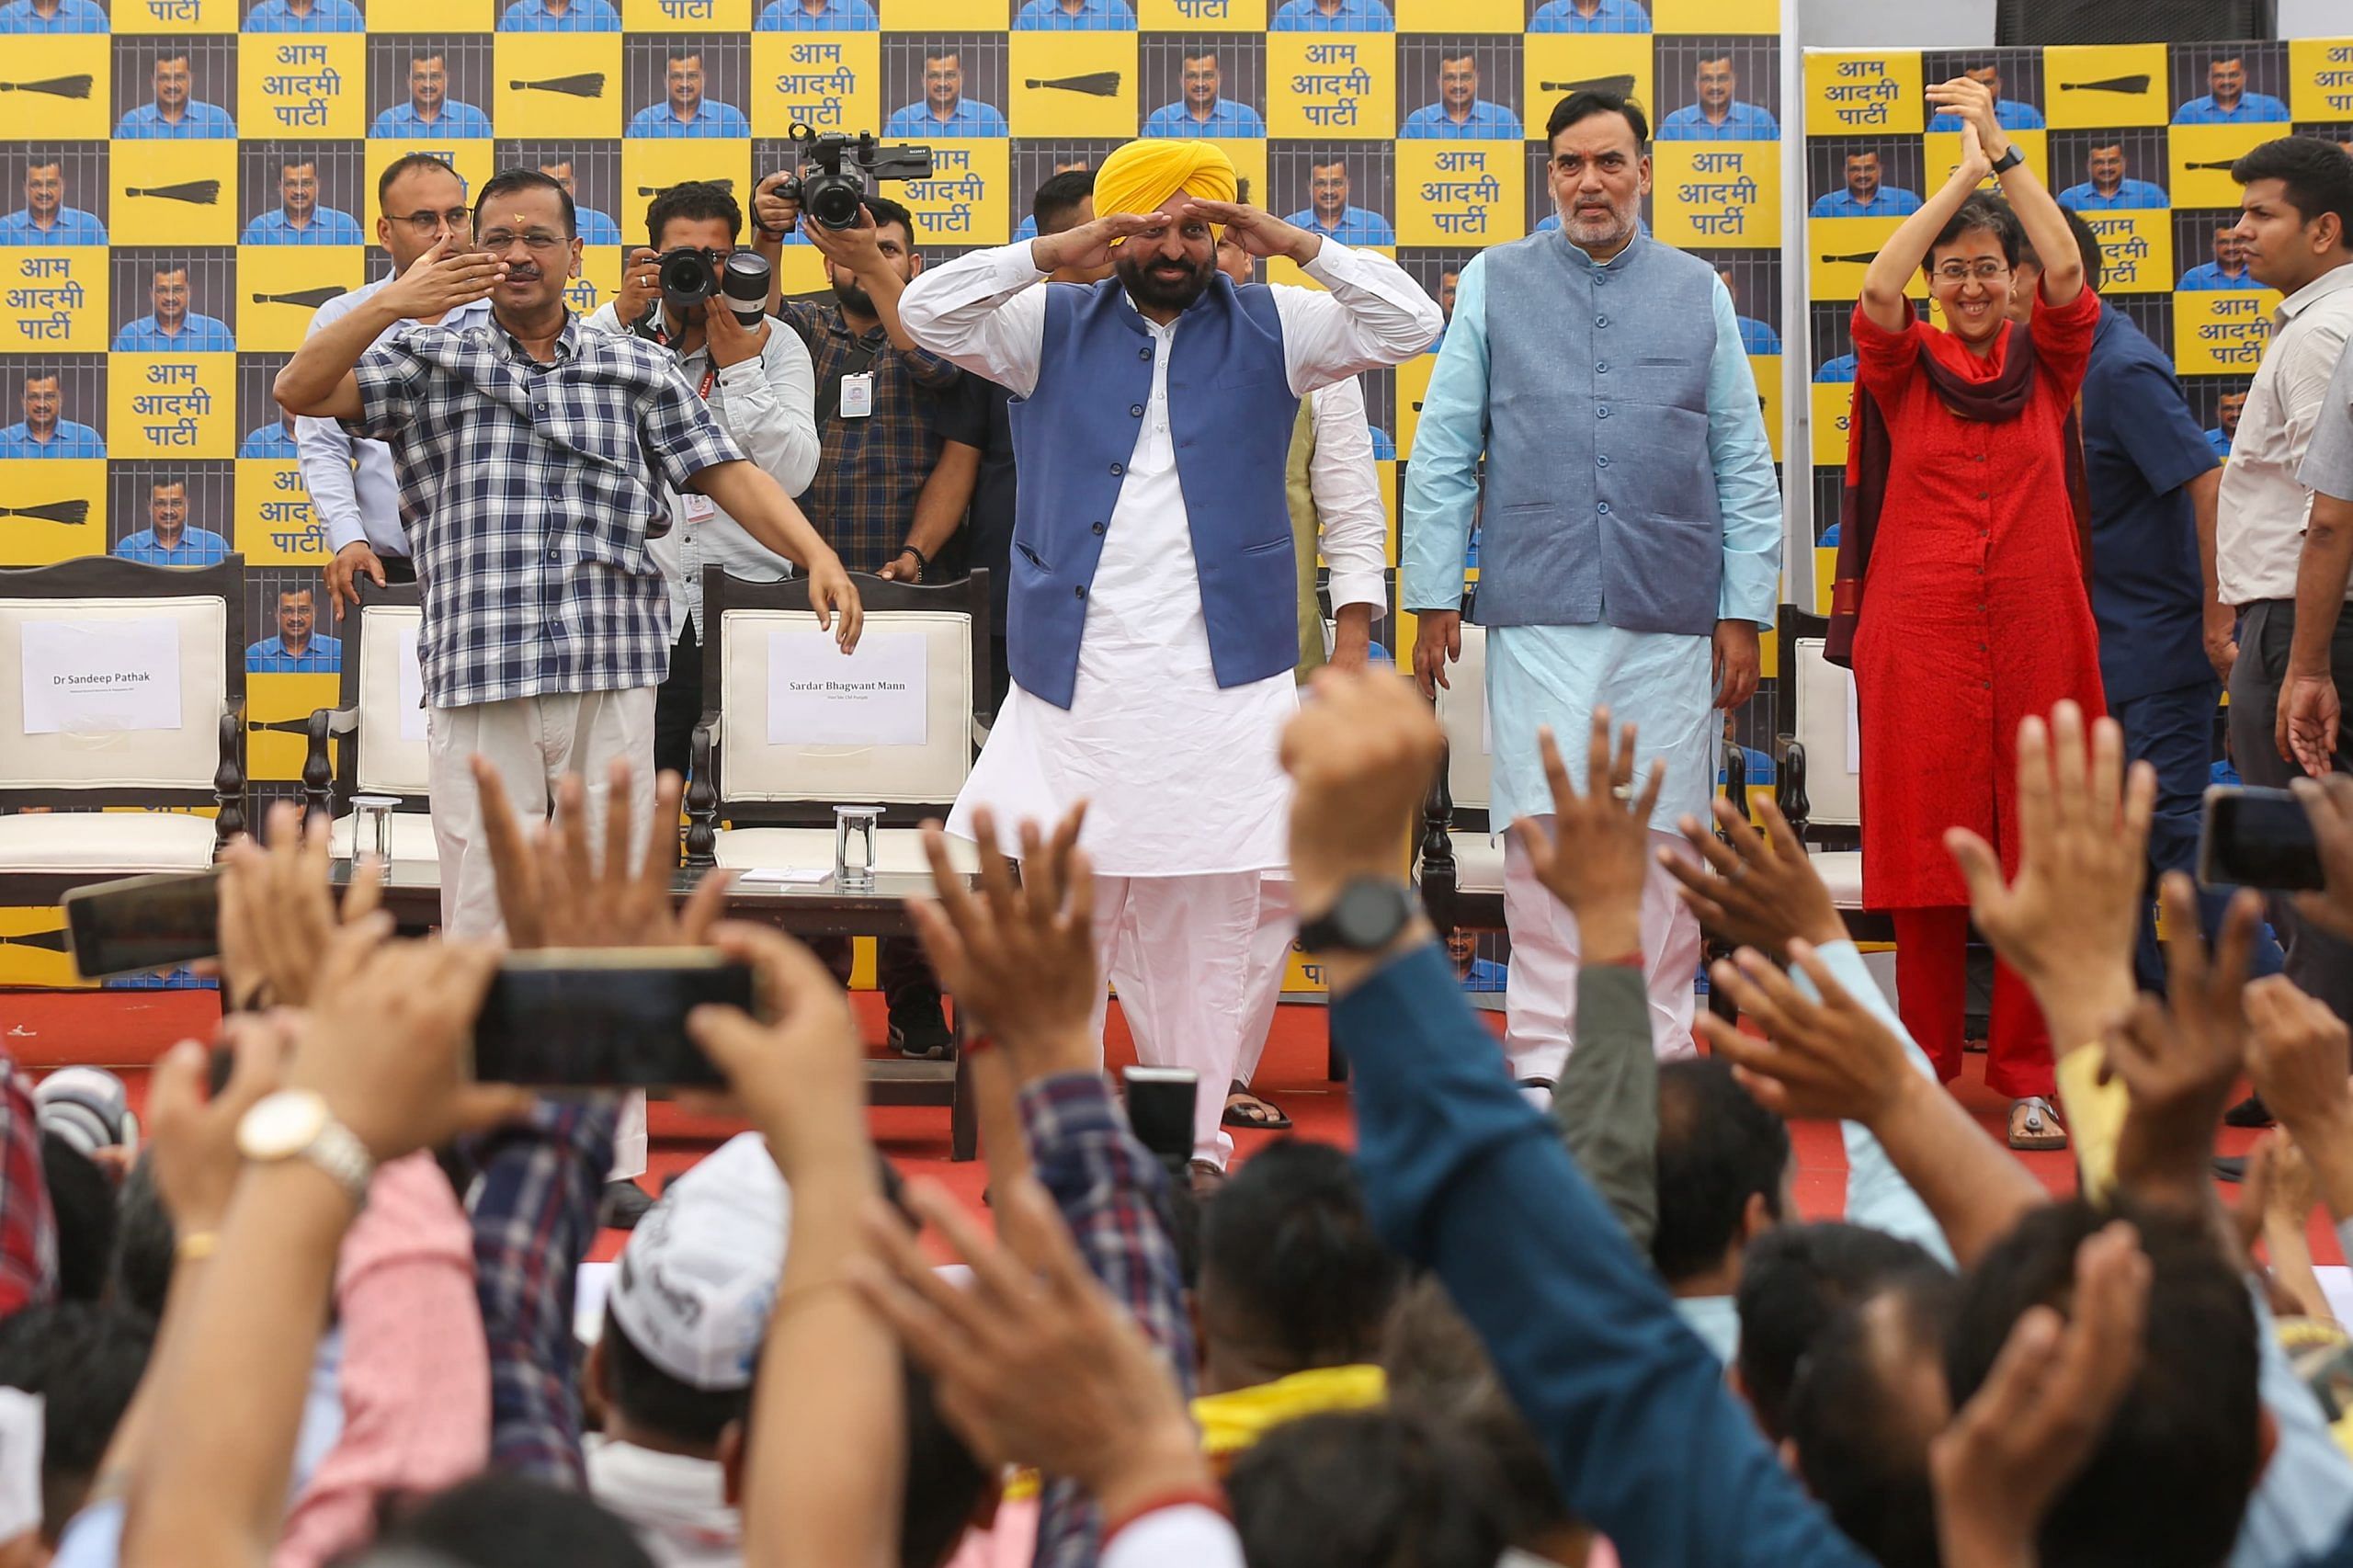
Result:
<svg viewBox="0 0 2353 1568"><path fill-rule="evenodd" d="M671 899L685 904L706 871L680 869L671 876ZM351 862L336 859L332 869L336 888L351 881ZM821 883L751 883L736 878L727 888L725 916L729 921L758 921L791 932L802 942L812 937L911 937L915 923L906 913L906 899L932 895L932 876L908 871L882 871L871 888L835 888L828 876ZM384 909L393 923L407 932L426 932L440 925L440 866L416 862L393 862L384 876ZM958 1050L953 1062L915 1062L904 1057L868 1059L866 1097L871 1104L939 1104L948 1107L948 1158L969 1161L979 1151L979 1114L972 1104L972 1081L965 1069L962 1008L955 1017Z"/></svg>

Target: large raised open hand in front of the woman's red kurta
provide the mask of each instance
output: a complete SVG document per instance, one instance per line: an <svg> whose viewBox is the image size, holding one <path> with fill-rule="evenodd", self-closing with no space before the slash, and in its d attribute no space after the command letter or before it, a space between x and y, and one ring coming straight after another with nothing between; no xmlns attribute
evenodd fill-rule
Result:
<svg viewBox="0 0 2353 1568"><path fill-rule="evenodd" d="M1972 82L1974 87L1977 82ZM1969 881L1969 911L1993 951L2033 989L2061 1052L2089 1045L2132 1010L2148 817L2158 775L2125 772L2125 732L2061 702L2019 725L2019 873L1977 833L1944 848Z"/></svg>

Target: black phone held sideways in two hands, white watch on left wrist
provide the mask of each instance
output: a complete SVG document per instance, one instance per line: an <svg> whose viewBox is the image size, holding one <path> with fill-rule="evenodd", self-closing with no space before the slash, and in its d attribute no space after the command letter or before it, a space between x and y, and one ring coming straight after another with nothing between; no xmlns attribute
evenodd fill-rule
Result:
<svg viewBox="0 0 2353 1568"><path fill-rule="evenodd" d="M720 1088L687 1038L704 1003L753 1010L753 972L715 954L513 954L473 1022L473 1076L536 1088Z"/></svg>

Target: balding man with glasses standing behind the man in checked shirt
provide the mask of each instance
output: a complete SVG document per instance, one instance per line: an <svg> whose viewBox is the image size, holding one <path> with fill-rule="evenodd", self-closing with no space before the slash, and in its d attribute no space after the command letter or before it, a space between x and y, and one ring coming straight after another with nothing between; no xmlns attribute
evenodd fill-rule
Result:
<svg viewBox="0 0 2353 1568"><path fill-rule="evenodd" d="M376 245L391 254L393 271L322 304L311 318L311 337L367 304L445 233L459 242L473 233L466 181L433 153L409 153L384 170L376 179ZM475 301L431 320L464 327L487 313L489 308ZM327 560L327 603L334 605L334 619L344 619L346 603L360 603L362 572L379 589L388 582L416 582L409 537L400 527L393 450L381 440L353 438L336 419L296 419L294 445L301 452L304 487L334 549L334 558Z"/></svg>

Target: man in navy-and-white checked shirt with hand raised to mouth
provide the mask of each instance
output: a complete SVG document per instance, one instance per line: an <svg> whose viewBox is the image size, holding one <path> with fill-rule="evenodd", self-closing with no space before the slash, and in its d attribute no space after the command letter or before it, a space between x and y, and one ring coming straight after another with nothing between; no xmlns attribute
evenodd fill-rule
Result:
<svg viewBox="0 0 2353 1568"><path fill-rule="evenodd" d="M536 170L508 170L482 186L473 231L478 250L447 235L313 332L275 388L287 412L341 419L393 447L424 593L416 657L442 928L459 937L499 925L473 758L499 772L527 822L546 817L567 772L588 779L588 810L602 817L614 758L638 775L633 798L654 798L671 610L647 537L668 525L671 492L718 501L809 574L845 652L859 638L840 558L713 424L678 356L572 318L572 195ZM409 320L485 297L489 320Z"/></svg>

